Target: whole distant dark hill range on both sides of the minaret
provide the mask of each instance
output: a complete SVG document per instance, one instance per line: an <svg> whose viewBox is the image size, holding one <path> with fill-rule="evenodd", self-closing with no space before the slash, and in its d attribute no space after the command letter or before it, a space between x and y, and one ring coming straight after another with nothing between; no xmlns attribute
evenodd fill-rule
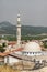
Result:
<svg viewBox="0 0 47 72"><path fill-rule="evenodd" d="M22 35L47 33L47 27L22 25ZM16 34L16 25L10 22L0 23L0 34Z"/></svg>

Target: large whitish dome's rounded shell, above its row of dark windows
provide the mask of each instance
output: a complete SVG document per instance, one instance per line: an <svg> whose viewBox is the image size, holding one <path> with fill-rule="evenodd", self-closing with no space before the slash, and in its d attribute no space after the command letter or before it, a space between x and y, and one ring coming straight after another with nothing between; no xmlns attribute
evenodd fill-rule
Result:
<svg viewBox="0 0 47 72"><path fill-rule="evenodd" d="M36 42L28 42L25 44L24 52L40 52L40 45Z"/></svg>

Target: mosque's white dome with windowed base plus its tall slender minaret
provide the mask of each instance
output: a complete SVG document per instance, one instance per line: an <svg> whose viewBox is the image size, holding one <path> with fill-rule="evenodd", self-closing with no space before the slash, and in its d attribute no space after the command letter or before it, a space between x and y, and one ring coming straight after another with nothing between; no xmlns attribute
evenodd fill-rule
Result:
<svg viewBox="0 0 47 72"><path fill-rule="evenodd" d="M16 25L16 39L17 39L17 48L22 48L21 43L21 20L20 14L17 14L17 25ZM35 42L31 41L24 44L23 50L21 51L24 55L42 55L42 47Z"/></svg>

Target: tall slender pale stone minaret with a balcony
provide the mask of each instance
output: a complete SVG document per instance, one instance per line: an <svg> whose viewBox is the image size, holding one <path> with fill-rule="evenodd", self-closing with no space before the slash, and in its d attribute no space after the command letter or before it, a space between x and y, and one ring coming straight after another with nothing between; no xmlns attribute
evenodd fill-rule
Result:
<svg viewBox="0 0 47 72"><path fill-rule="evenodd" d="M20 20L20 14L17 14L16 39L17 39L17 48L21 48L21 20Z"/></svg>

